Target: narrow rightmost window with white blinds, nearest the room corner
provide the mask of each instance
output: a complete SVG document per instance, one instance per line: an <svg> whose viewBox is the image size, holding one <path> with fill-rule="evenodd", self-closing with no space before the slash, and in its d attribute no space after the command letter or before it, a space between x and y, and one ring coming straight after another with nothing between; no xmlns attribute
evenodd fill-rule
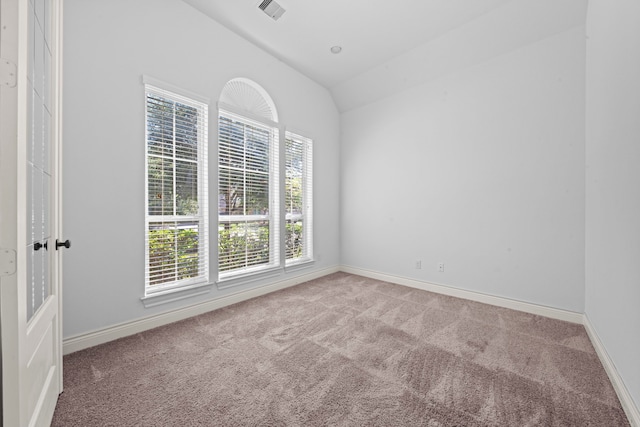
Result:
<svg viewBox="0 0 640 427"><path fill-rule="evenodd" d="M313 258L313 148L310 139L285 133L285 258Z"/></svg>

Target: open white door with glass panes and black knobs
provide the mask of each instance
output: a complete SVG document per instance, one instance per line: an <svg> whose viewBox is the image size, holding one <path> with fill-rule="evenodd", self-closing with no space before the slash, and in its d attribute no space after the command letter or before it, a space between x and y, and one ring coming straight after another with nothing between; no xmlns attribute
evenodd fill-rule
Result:
<svg viewBox="0 0 640 427"><path fill-rule="evenodd" d="M0 4L2 418L5 426L48 426L62 391L62 5Z"/></svg>

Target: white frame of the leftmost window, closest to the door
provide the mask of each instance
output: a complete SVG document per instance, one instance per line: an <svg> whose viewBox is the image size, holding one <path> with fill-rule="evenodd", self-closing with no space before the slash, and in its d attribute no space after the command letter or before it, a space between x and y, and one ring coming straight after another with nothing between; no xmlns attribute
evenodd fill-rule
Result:
<svg viewBox="0 0 640 427"><path fill-rule="evenodd" d="M208 191L208 127L209 127L209 99L197 94L190 93L176 86L161 82L149 76L143 76L144 85L144 99L145 99L145 296L160 296L168 293L185 291L191 288L197 288L209 284L210 268L209 268L209 191ZM174 203L174 215L150 215L149 213L149 165L150 157L158 157L156 155L150 155L149 153L149 95L155 95L174 103L180 103L182 105L195 108L197 111L198 124L197 126L197 200L198 200L198 213L195 215L177 215L175 212L175 191L172 192L172 200ZM175 109L173 110L175 114ZM177 159L175 155L176 136L175 136L176 123L173 123L173 158ZM184 159L180 159L182 161ZM177 169L176 163L173 165L173 171ZM175 177L173 179L175 183ZM175 185L175 184L174 184ZM150 224L152 223L164 223L164 222L191 222L195 223L198 228L198 274L195 277L189 277L186 279L178 279L166 283L151 284L151 266L150 266ZM176 228L178 226L176 225ZM176 273L177 274L177 273ZM145 303L146 305L147 303Z"/></svg>

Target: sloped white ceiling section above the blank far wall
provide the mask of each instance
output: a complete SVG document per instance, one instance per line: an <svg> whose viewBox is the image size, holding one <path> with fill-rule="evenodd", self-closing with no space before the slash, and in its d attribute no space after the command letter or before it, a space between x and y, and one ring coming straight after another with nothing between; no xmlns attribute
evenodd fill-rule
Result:
<svg viewBox="0 0 640 427"><path fill-rule="evenodd" d="M586 0L510 0L331 88L341 112L584 25Z"/></svg>

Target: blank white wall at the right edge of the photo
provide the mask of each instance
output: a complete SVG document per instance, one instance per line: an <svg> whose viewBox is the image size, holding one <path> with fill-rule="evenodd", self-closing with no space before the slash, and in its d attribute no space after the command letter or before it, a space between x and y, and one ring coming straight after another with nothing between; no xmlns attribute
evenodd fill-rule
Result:
<svg viewBox="0 0 640 427"><path fill-rule="evenodd" d="M590 0L586 314L640 406L640 3Z"/></svg>

